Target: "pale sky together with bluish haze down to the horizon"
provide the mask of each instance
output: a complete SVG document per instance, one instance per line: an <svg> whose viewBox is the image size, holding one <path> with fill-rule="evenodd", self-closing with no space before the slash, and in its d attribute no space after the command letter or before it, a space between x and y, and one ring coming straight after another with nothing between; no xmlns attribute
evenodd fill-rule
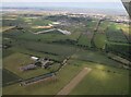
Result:
<svg viewBox="0 0 131 97"><path fill-rule="evenodd" d="M52 0L49 0L48 2L40 2L41 0L38 0L37 2L35 2L34 0L32 0L32 2L23 0L23 1L15 1L14 2L10 2L10 0L5 0L4 2L2 2L2 8L35 8L35 9L43 9L43 10L55 10L55 11L100 11L102 13L106 12L108 13L119 13L119 14L127 14L127 11L124 9L124 7L122 5L122 2L120 0L97 0L97 2L95 2L96 0L91 1L86 1L84 2L84 0L82 0L81 2L76 1L73 2L71 0L71 2L62 2L59 0L55 0L53 2L49 2ZM43 0L45 1L45 0ZM59 1L59 2L58 2ZM69 1L69 0L68 0Z"/></svg>

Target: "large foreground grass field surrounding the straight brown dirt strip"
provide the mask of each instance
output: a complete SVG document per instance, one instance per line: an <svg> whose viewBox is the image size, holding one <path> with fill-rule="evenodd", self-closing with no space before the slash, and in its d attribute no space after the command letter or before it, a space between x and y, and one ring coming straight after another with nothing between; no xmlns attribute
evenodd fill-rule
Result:
<svg viewBox="0 0 131 97"><path fill-rule="evenodd" d="M110 63L110 65L112 63ZM92 71L70 93L71 95L128 94L128 70L107 66L99 63L80 61L78 59L71 59L68 61L68 64L58 73L58 80L56 82L41 82L28 86L19 86L19 84L14 84L3 87L3 94L55 95L60 92L60 89L63 88L76 74L79 74L83 68L91 68Z"/></svg>

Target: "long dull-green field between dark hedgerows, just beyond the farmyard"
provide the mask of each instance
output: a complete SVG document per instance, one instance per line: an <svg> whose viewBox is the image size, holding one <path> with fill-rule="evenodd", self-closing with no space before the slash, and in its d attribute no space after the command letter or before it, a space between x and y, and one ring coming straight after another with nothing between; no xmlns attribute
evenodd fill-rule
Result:
<svg viewBox="0 0 131 97"><path fill-rule="evenodd" d="M68 47L63 45L53 45L53 44L41 44L41 43L23 43L21 45L24 48L29 49L29 50L36 50L36 51L41 51L41 52L48 52L52 54L59 54L59 56L70 56L75 52L74 47Z"/></svg>

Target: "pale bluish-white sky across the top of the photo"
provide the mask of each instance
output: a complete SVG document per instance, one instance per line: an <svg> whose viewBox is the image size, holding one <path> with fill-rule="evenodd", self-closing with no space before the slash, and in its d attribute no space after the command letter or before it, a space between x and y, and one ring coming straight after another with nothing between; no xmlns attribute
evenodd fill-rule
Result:
<svg viewBox="0 0 131 97"><path fill-rule="evenodd" d="M14 8L70 8L127 12L121 0L2 0L2 7Z"/></svg>

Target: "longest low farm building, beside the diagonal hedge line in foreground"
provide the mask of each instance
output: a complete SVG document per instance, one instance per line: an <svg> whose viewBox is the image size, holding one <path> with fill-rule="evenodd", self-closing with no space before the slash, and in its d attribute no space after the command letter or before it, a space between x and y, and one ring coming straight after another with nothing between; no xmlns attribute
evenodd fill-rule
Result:
<svg viewBox="0 0 131 97"><path fill-rule="evenodd" d="M36 76L26 81L21 82L21 86L38 83L41 81L50 81L50 80L56 80L56 74L55 73L47 73L40 76Z"/></svg>

